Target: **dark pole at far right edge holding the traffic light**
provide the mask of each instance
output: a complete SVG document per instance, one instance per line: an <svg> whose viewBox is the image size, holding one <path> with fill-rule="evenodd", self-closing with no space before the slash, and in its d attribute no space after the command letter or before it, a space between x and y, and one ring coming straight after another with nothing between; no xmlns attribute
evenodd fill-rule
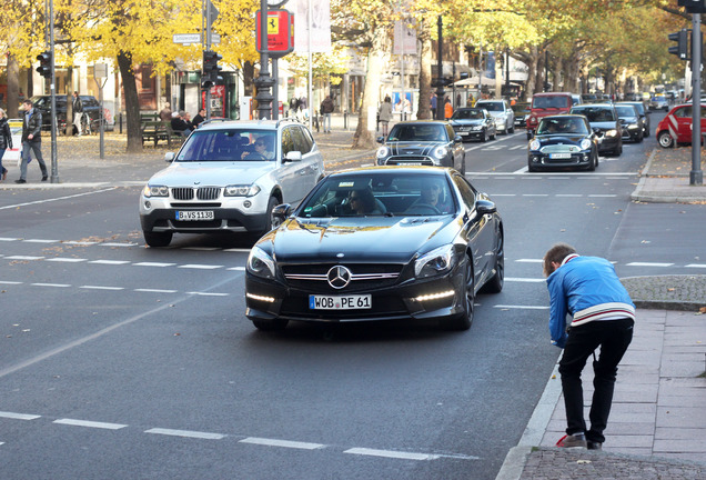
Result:
<svg viewBox="0 0 706 480"><path fill-rule="evenodd" d="M702 171L702 14L692 13L692 171L689 184L704 184ZM698 127L696 127L698 126Z"/></svg>

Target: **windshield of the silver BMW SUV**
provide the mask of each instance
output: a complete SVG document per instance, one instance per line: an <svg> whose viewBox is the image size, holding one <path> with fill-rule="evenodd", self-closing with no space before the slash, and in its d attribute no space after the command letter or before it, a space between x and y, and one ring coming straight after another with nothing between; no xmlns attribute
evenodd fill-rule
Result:
<svg viewBox="0 0 706 480"><path fill-rule="evenodd" d="M274 161L278 146L274 130L196 130L179 150L178 162Z"/></svg>

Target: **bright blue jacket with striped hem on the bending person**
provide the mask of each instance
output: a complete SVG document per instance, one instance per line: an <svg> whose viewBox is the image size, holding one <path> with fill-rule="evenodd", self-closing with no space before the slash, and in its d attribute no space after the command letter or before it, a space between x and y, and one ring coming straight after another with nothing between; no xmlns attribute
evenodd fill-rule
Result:
<svg viewBox="0 0 706 480"><path fill-rule="evenodd" d="M566 314L571 326L591 321L635 319L635 304L621 283L613 264L598 257L566 257L546 279L549 289L549 333L552 343L566 344Z"/></svg>

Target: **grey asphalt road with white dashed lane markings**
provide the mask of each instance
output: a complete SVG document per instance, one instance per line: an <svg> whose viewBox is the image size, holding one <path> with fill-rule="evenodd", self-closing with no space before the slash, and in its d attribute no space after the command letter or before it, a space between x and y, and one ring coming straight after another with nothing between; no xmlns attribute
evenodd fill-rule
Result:
<svg viewBox="0 0 706 480"><path fill-rule="evenodd" d="M524 131L467 144L505 221L506 283L462 333L259 332L238 238L145 248L139 188L4 191L0 478L495 478L559 353L544 251L566 241L622 277L706 258L704 206L629 202L655 144L579 173L524 171Z"/></svg>

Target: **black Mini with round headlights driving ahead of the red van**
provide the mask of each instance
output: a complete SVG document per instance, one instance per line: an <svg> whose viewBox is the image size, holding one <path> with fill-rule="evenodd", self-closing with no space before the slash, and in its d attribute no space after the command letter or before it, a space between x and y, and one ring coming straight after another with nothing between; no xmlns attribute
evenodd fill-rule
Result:
<svg viewBox="0 0 706 480"><path fill-rule="evenodd" d="M544 117L530 142L527 170L577 168L595 170L598 143L588 120L578 114Z"/></svg>

